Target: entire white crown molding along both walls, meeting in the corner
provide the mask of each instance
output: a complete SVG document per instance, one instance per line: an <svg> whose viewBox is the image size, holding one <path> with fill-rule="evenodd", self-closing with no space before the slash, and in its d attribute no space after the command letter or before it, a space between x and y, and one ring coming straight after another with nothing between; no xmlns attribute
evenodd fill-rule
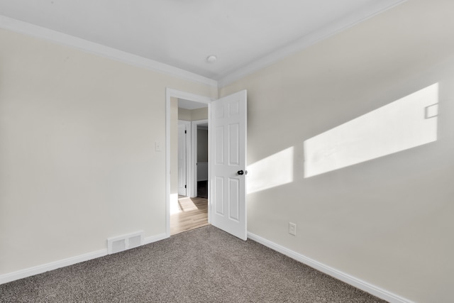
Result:
<svg viewBox="0 0 454 303"><path fill-rule="evenodd" d="M211 87L221 88L225 87L228 84L236 82L238 79L246 77L253 72L261 70L267 66L272 65L278 60L282 60L284 57L293 55L305 48L308 48L311 45L319 42L320 40L326 39L331 35L345 31L345 29L355 26L356 24L365 21L372 16L392 9L394 6L402 4L407 0L382 0L377 1L375 6L369 6L367 9L362 9L350 13L350 15L345 16L341 20L335 21L333 23L320 28L318 31L309 33L308 35L299 38L294 43L276 50L275 52L265 55L264 57L259 58L249 64L240 67L237 70L228 72L221 77L216 79L210 79L208 77L203 77L201 75L196 75L193 72L188 72L187 70L182 70L178 67L173 67L171 65L166 65L155 60L146 59L138 55L133 55L131 53L126 53L121 50L116 50L114 48L109 48L104 45L90 42L81 38L74 37L72 35L67 35L65 33L60 33L57 31L52 31L48 28L43 28L40 26L35 26L31 23L26 23L23 21L18 21L13 18L0 15L0 28L14 31L17 33L25 33L27 35L32 35L37 38L43 38L45 40L51 40L55 43L60 43L62 45L69 45L73 48L79 48L81 50L87 51L88 53L94 53L96 55L101 55L104 57L109 57L114 60L121 62L126 62L131 65L136 65L139 67L147 68L148 70L153 70L155 72L162 72L167 75L180 77L183 79L191 80L194 82L199 82L202 84L207 84ZM358 20L356 16L365 16ZM217 81L216 81L217 80Z"/></svg>

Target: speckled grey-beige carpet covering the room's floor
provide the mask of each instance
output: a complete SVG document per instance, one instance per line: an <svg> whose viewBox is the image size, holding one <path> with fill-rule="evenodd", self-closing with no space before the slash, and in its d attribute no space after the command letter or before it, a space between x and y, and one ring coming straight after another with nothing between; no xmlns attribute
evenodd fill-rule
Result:
<svg viewBox="0 0 454 303"><path fill-rule="evenodd" d="M214 226L0 285L0 302L384 302Z"/></svg>

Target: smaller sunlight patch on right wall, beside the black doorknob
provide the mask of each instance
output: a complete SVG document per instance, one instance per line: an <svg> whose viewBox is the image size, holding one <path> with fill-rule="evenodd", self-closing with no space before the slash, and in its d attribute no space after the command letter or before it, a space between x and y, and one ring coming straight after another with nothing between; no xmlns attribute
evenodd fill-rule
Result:
<svg viewBox="0 0 454 303"><path fill-rule="evenodd" d="M248 194L293 182L294 148L248 165Z"/></svg>

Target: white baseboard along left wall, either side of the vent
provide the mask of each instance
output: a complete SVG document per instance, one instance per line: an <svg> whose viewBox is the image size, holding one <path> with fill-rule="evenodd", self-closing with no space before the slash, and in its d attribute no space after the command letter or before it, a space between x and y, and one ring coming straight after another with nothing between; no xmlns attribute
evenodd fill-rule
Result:
<svg viewBox="0 0 454 303"><path fill-rule="evenodd" d="M145 238L143 245L160 241L162 239L168 238L165 233L161 233L157 236L151 236ZM77 255L75 257L66 258L63 260L58 260L55 262L34 266L33 268L26 268L24 270L18 270L16 272L10 272L4 275L0 275L0 285L8 283L14 280L23 279L24 277L31 277L32 275L38 275L43 272L48 272L50 270L56 270L57 268L64 268L65 266L70 266L76 263L81 263L84 261L101 258L107 255L107 248L102 250L97 250L92 253L85 253L84 255Z"/></svg>

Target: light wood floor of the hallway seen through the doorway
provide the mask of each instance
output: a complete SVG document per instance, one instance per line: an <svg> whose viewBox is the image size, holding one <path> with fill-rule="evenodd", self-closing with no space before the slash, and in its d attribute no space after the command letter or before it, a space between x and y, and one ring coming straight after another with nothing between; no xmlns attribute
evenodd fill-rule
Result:
<svg viewBox="0 0 454 303"><path fill-rule="evenodd" d="M170 215L170 235L209 225L208 199L178 197L178 212Z"/></svg>

